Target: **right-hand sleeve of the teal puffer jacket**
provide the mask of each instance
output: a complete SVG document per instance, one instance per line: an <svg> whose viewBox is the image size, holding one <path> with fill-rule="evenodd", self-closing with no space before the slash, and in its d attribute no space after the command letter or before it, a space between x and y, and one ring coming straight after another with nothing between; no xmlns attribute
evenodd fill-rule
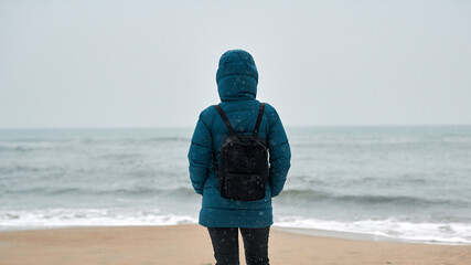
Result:
<svg viewBox="0 0 471 265"><path fill-rule="evenodd" d="M289 147L288 137L285 132L285 128L275 109L269 114L268 120L269 132L267 141L270 155L268 181L271 186L271 197L276 197L285 187L288 170L291 166L291 150Z"/></svg>

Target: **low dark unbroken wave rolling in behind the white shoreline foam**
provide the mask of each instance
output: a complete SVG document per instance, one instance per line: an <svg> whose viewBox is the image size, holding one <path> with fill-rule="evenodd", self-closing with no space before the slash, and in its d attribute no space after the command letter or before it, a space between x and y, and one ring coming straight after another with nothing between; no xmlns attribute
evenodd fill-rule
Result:
<svg viewBox="0 0 471 265"><path fill-rule="evenodd" d="M67 186L41 186L41 187L7 187L2 186L1 195L28 195L28 197L77 197L77 195L95 195L95 197L174 197L188 198L194 195L194 191L190 186L168 184L161 186L157 183L144 182L141 184L132 184L129 187L113 187L111 184L97 184L95 187L67 187ZM1 197L0 195L0 197ZM465 208L471 201L465 198L426 198L413 195L378 195L378 194L341 194L321 190L308 189L286 189L277 198L277 203L280 205L312 205L313 203L329 203L332 205L358 205L358 206L457 206Z"/></svg>

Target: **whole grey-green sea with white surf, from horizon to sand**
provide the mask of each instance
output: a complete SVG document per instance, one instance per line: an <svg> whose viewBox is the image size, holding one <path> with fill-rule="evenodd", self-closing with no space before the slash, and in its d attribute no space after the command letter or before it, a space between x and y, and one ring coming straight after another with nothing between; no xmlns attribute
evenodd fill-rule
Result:
<svg viewBox="0 0 471 265"><path fill-rule="evenodd" d="M192 130L0 129L0 231L197 223ZM471 126L286 130L274 226L471 244Z"/></svg>

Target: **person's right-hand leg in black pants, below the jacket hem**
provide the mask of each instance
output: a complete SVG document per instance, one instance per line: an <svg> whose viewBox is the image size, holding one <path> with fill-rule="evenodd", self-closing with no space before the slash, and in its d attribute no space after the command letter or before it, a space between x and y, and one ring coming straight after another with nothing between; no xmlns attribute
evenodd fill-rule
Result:
<svg viewBox="0 0 471 265"><path fill-rule="evenodd" d="M270 226L261 229L240 229L247 265L270 264L268 259L269 232Z"/></svg>

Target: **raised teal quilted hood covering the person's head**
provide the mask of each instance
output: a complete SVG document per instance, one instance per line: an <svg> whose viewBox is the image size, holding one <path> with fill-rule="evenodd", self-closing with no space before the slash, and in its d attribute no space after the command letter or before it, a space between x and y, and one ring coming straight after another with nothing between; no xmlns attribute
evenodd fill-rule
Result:
<svg viewBox="0 0 471 265"><path fill-rule="evenodd" d="M258 72L251 55L243 50L225 52L220 59L216 83L222 102L255 99Z"/></svg>

